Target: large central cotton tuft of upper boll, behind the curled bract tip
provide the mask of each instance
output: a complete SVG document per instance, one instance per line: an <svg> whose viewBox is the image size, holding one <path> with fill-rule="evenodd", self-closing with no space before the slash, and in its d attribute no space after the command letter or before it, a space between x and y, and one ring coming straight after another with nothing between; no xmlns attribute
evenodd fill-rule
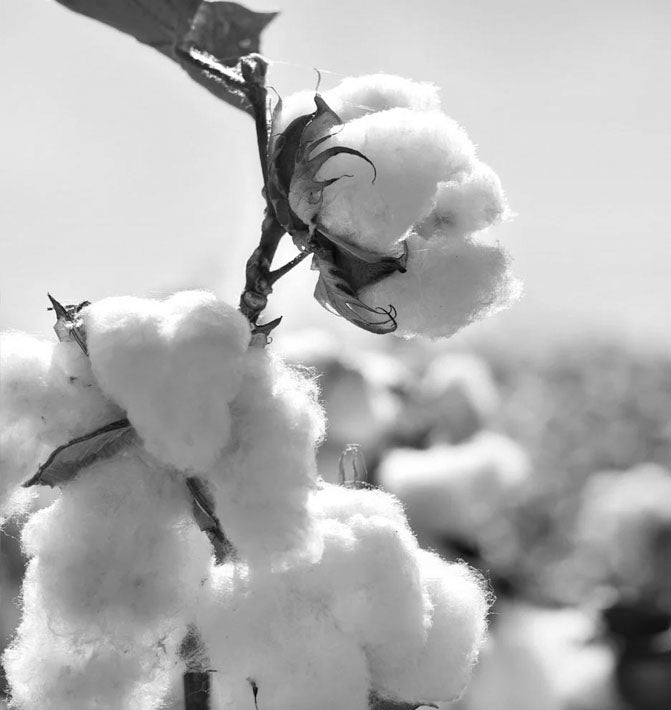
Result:
<svg viewBox="0 0 671 710"><path fill-rule="evenodd" d="M324 189L321 205L292 187L292 208L305 223L316 219L327 234L378 252L431 210L438 182L466 171L475 150L444 113L403 108L350 121L324 145L358 150L374 169L355 155L336 155L317 175L340 178Z"/></svg>

